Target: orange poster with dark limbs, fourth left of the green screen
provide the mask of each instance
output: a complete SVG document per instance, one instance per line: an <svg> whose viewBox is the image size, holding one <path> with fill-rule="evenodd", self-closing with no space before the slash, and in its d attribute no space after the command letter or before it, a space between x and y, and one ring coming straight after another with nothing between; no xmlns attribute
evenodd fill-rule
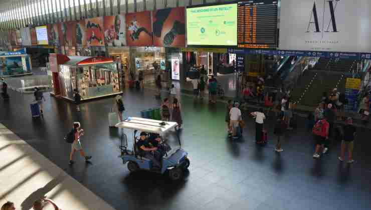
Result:
<svg viewBox="0 0 371 210"><path fill-rule="evenodd" d="M85 20L86 41L89 46L104 46L103 17Z"/></svg>

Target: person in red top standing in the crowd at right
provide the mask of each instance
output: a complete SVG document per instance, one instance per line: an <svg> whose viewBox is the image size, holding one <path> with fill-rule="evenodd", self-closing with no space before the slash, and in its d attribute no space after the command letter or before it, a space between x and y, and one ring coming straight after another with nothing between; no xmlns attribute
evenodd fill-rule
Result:
<svg viewBox="0 0 371 210"><path fill-rule="evenodd" d="M313 154L313 158L319 158L319 154L322 153L324 149L325 141L328 139L328 129L329 129L329 123L327 122L326 116L323 117L323 119L316 122L316 124L313 127L313 133L314 137L316 138L316 149ZM316 129L320 129L319 131L316 131ZM319 152L319 149L321 149L321 152Z"/></svg>

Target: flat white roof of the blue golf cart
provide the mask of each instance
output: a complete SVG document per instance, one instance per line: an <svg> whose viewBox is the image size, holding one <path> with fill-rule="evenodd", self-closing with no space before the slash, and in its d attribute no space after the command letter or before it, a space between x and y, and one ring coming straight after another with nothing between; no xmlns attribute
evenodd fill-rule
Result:
<svg viewBox="0 0 371 210"><path fill-rule="evenodd" d="M140 117L128 117L124 121L117 123L116 127L161 134L174 128L176 125L176 122L146 119Z"/></svg>

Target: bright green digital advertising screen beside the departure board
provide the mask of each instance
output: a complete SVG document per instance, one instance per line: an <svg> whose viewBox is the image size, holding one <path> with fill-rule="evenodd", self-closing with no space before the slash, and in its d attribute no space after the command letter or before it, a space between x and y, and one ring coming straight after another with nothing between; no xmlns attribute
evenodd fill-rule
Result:
<svg viewBox="0 0 371 210"><path fill-rule="evenodd" d="M237 45L237 3L187 8L188 45Z"/></svg>

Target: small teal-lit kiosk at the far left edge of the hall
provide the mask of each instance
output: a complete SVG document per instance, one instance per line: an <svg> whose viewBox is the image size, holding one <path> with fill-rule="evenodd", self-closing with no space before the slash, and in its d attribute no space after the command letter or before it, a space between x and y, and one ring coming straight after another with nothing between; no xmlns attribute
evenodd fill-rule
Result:
<svg viewBox="0 0 371 210"><path fill-rule="evenodd" d="M32 74L31 58L26 49L0 51L0 76Z"/></svg>

